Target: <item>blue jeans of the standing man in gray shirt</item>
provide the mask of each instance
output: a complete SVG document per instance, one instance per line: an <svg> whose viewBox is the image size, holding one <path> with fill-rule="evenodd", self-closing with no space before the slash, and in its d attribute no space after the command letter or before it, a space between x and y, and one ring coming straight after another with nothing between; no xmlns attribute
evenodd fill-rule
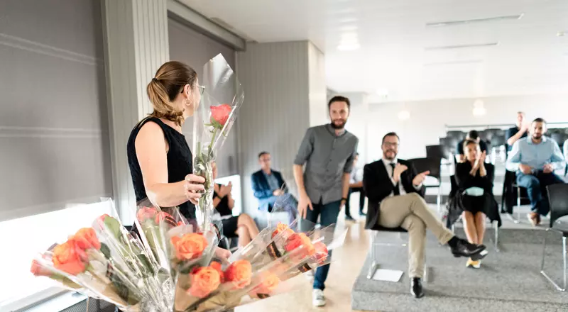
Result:
<svg viewBox="0 0 568 312"><path fill-rule="evenodd" d="M339 215L339 206L341 206L341 201L334 201L329 204L312 204L314 210L307 208L306 220L312 223L317 223L317 217L320 216L320 225L325 228L328 225L337 223L337 215ZM300 223L300 228L302 231L311 230L310 228L305 228ZM332 257L332 251L329 250L329 259ZM325 289L325 280L327 279L327 273L329 272L329 264L318 267L314 274L314 289Z"/></svg>

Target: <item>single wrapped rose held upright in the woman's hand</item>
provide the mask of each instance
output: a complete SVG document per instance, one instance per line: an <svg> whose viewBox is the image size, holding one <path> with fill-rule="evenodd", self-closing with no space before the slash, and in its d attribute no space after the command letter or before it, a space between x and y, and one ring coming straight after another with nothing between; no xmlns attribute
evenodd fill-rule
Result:
<svg viewBox="0 0 568 312"><path fill-rule="evenodd" d="M200 226L208 227L214 209L212 162L234 124L244 101L244 91L220 54L204 65L202 84L205 89L193 121L193 171L205 178L204 195L197 205L197 221Z"/></svg>

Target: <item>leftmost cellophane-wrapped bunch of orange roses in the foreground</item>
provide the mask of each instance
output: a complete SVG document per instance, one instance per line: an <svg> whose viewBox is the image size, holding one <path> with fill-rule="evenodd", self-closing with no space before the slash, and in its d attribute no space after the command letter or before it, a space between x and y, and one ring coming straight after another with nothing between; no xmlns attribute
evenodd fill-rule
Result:
<svg viewBox="0 0 568 312"><path fill-rule="evenodd" d="M35 257L31 272L123 311L167 311L171 296L162 291L158 265L151 259L118 218L103 215Z"/></svg>

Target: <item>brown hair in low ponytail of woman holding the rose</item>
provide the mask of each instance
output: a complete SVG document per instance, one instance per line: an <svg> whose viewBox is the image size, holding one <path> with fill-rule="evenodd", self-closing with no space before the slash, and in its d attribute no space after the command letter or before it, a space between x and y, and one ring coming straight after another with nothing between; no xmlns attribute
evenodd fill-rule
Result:
<svg viewBox="0 0 568 312"><path fill-rule="evenodd" d="M173 106L172 102L182 93L186 84L195 87L196 80L197 72L191 67L177 61L165 62L146 87L154 108L150 116L165 118L181 126L184 121L183 110Z"/></svg>

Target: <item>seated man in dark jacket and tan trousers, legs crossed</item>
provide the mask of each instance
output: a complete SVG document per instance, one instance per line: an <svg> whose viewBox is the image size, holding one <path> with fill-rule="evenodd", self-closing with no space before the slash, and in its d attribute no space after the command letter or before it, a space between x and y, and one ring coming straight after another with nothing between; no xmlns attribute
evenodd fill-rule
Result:
<svg viewBox="0 0 568 312"><path fill-rule="evenodd" d="M424 296L421 279L426 229L431 230L442 245L449 245L454 257L480 260L487 252L484 245L470 244L454 236L430 211L422 199L422 182L430 172L417 174L411 162L397 159L398 143L396 133L387 133L382 143L383 159L364 167L363 187L368 198L366 228L408 230L410 293L420 298Z"/></svg>

